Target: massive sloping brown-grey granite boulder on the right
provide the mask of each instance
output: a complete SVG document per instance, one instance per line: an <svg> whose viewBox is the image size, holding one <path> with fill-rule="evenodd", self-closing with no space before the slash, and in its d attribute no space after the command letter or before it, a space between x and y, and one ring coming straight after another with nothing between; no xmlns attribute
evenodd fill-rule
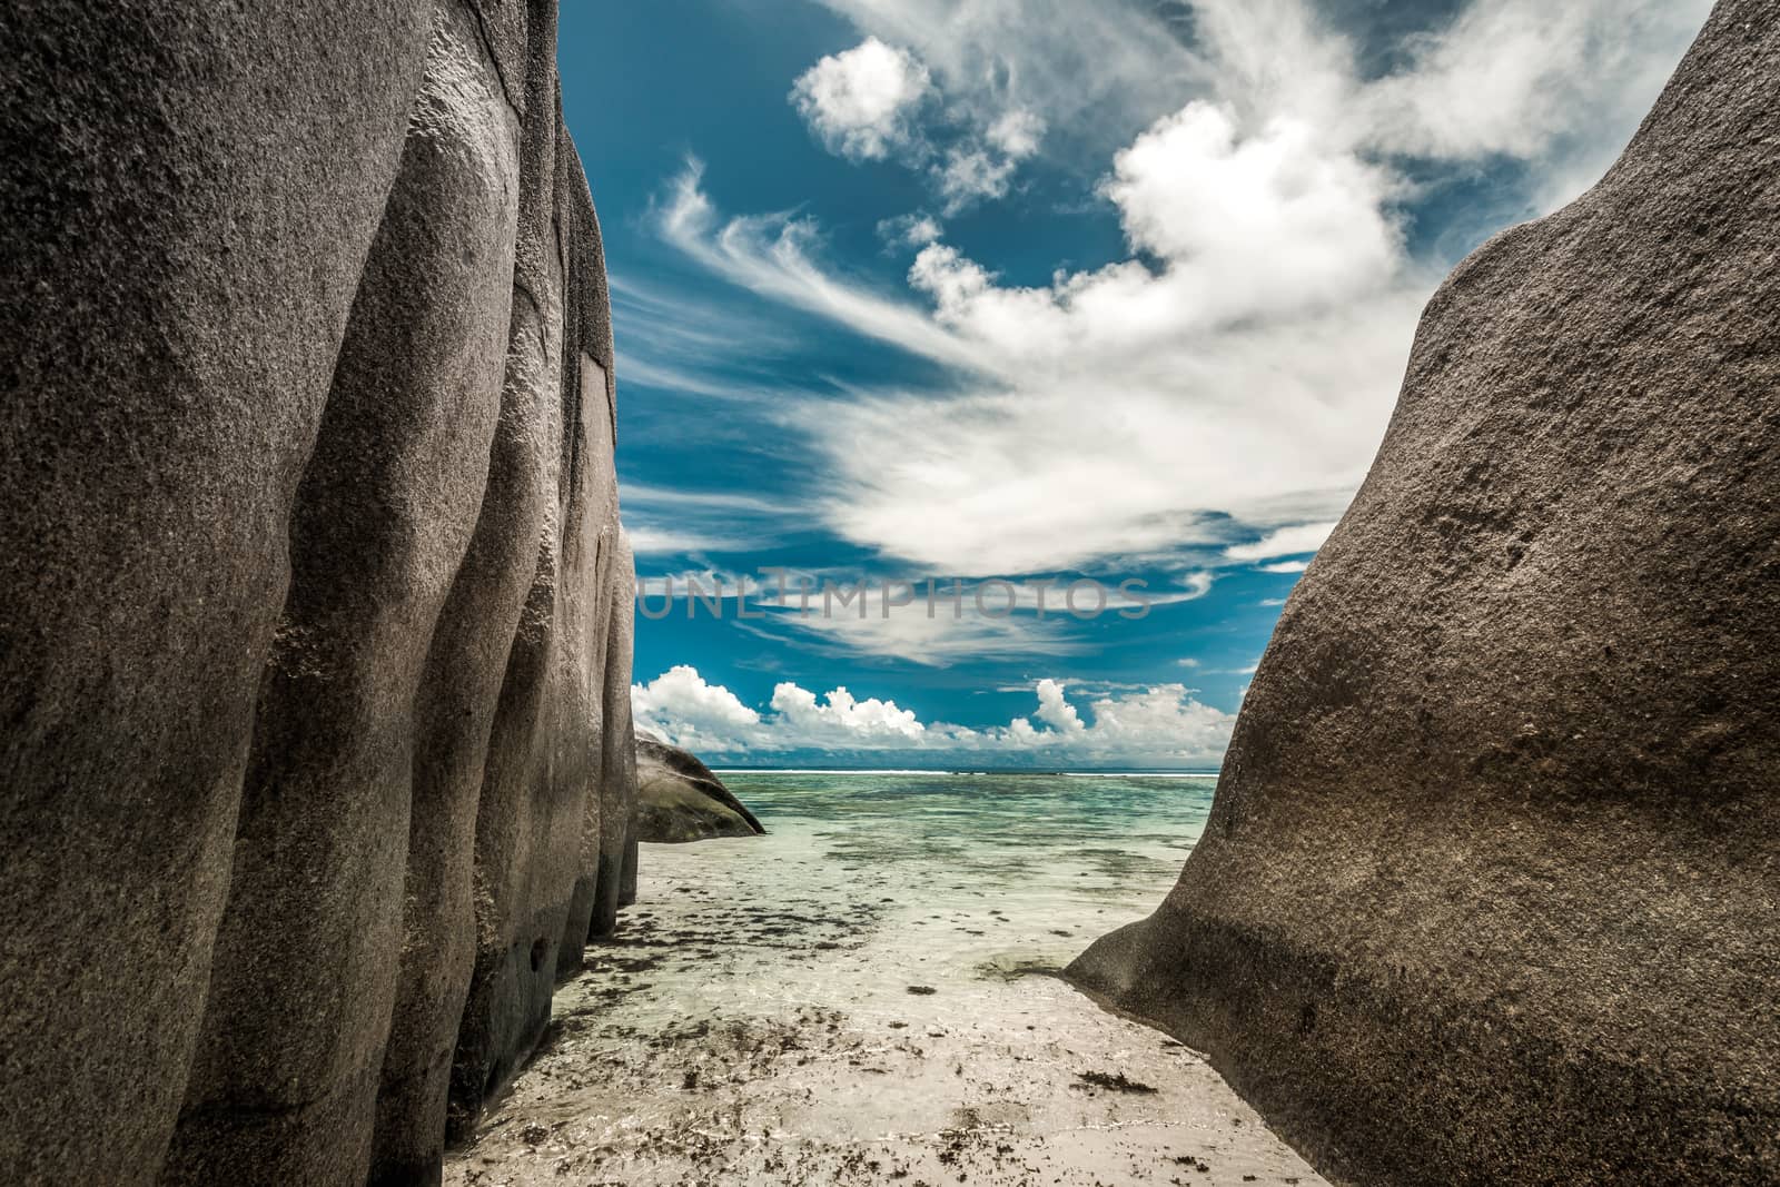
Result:
<svg viewBox="0 0 1780 1187"><path fill-rule="evenodd" d="M1205 838L1072 975L1369 1183L1780 1180L1780 4L1428 308Z"/></svg>

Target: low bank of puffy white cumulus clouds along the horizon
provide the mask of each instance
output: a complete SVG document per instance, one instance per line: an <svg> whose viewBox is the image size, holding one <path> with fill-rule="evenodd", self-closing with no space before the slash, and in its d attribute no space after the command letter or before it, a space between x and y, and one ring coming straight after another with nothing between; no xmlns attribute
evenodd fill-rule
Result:
<svg viewBox="0 0 1780 1187"><path fill-rule="evenodd" d="M639 730L732 760L817 751L975 756L1013 765L1207 765L1223 756L1235 724L1234 714L1196 701L1178 683L1105 690L1089 701L1088 717L1061 680L1038 680L1032 694L1038 707L1031 717L986 730L922 723L895 701L860 699L846 687L819 696L794 682L774 687L767 710L756 712L689 666L632 685L630 699Z"/></svg>

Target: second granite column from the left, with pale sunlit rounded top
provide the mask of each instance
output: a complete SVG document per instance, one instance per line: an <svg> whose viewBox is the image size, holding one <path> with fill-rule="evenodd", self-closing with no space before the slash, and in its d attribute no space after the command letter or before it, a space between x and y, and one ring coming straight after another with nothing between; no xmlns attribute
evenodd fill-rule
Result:
<svg viewBox="0 0 1780 1187"><path fill-rule="evenodd" d="M441 7L290 520L205 1027L164 1182L345 1182L395 1004L413 705L488 479L516 126ZM340 986L354 986L340 993Z"/></svg>

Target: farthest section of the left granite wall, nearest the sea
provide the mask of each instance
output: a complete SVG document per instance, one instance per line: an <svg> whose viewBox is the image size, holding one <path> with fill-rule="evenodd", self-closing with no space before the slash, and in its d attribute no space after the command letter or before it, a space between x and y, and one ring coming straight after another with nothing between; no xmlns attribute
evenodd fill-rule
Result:
<svg viewBox="0 0 1780 1187"><path fill-rule="evenodd" d="M587 836L596 831L603 852L605 829L616 829L621 845L628 824L600 810L603 666L621 662L627 689L630 673L628 650L609 657L605 644L612 621L634 607L611 461L611 306L598 219L566 133L554 162L548 242L562 242L566 256L543 251L536 278L520 269L516 283L534 297L523 303L532 320L514 333L509 383L559 393L546 440L561 452L477 813L477 947L452 1059L454 1130L475 1119L543 1036L557 970L573 968L571 949L586 943L586 927L570 920L589 874ZM621 790L612 794L623 799Z"/></svg>

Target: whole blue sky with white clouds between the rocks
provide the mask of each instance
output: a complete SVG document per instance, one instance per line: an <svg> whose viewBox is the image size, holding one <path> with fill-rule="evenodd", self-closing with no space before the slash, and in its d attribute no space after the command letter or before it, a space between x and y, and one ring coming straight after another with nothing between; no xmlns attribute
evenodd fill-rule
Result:
<svg viewBox="0 0 1780 1187"><path fill-rule="evenodd" d="M564 5L639 724L717 763L1216 767L1422 303L1600 176L1709 7Z"/></svg>

